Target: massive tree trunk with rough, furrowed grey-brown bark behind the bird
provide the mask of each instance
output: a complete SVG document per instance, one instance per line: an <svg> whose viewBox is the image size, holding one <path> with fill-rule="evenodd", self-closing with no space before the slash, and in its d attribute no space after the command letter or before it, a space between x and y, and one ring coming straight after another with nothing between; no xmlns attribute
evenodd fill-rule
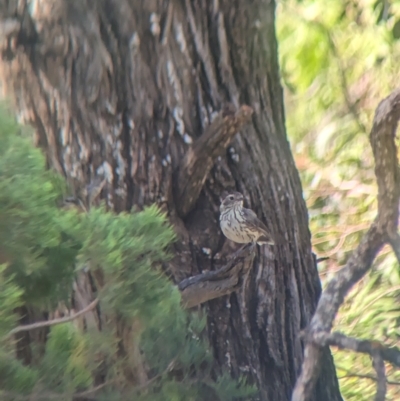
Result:
<svg viewBox="0 0 400 401"><path fill-rule="evenodd" d="M276 245L259 247L240 287L204 309L216 371L247 375L260 400L289 400L299 332L321 288L285 133L274 1L0 4L1 76L20 119L76 195L104 180L99 199L109 208L157 203L168 212L179 235L175 282L217 269L237 249L219 229L223 191L242 192L268 225ZM251 122L182 168L226 104L249 105ZM340 400L329 350L323 366L313 400Z"/></svg>

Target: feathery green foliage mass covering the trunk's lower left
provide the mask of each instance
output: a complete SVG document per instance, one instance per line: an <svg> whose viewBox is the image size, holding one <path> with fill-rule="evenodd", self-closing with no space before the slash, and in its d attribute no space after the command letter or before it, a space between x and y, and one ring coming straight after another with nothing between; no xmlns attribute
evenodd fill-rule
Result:
<svg viewBox="0 0 400 401"><path fill-rule="evenodd" d="M175 238L164 214L155 206L119 215L104 207L60 208L63 180L46 170L42 153L4 109L0 142L2 399L34 392L38 400L68 401L91 391L99 377L109 384L96 397L113 401L233 400L254 393L243 380L211 379L205 317L182 309L178 289L162 272ZM20 307L41 316L68 304L75 276L87 272L97 280L101 330L82 330L79 319L52 326L44 342L21 341L30 359L24 365L8 336L26 313ZM118 332L121 326L132 332ZM137 387L125 372L140 369L149 381Z"/></svg>

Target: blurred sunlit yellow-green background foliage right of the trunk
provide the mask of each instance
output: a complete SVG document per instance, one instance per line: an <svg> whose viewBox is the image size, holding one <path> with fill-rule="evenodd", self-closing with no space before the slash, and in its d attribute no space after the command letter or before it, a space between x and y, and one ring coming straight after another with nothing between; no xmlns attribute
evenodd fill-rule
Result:
<svg viewBox="0 0 400 401"><path fill-rule="evenodd" d="M376 181L368 134L378 102L397 85L400 2L283 0L278 40L286 121L310 216L323 283L346 262L376 215ZM399 346L398 263L384 249L353 289L335 329ZM347 401L370 400L371 361L335 351ZM398 382L398 373L388 370ZM364 377L363 377L364 376ZM399 386L390 384L388 400Z"/></svg>

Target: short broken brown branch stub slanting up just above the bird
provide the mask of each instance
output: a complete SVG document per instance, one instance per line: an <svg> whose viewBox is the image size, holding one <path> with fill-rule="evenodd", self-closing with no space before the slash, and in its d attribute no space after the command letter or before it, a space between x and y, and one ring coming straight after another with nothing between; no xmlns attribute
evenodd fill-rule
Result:
<svg viewBox="0 0 400 401"><path fill-rule="evenodd" d="M215 159L224 153L252 113L249 106L241 106L236 111L233 105L226 105L188 150L174 177L175 197L179 199L176 205L181 216L190 212Z"/></svg>

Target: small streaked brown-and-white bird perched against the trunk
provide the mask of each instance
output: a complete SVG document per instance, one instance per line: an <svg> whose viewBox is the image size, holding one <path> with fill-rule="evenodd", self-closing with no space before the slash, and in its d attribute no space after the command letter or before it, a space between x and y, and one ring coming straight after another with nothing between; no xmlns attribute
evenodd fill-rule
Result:
<svg viewBox="0 0 400 401"><path fill-rule="evenodd" d="M221 203L219 223L225 237L239 244L274 245L267 227L250 209L243 207L243 195L232 192Z"/></svg>

